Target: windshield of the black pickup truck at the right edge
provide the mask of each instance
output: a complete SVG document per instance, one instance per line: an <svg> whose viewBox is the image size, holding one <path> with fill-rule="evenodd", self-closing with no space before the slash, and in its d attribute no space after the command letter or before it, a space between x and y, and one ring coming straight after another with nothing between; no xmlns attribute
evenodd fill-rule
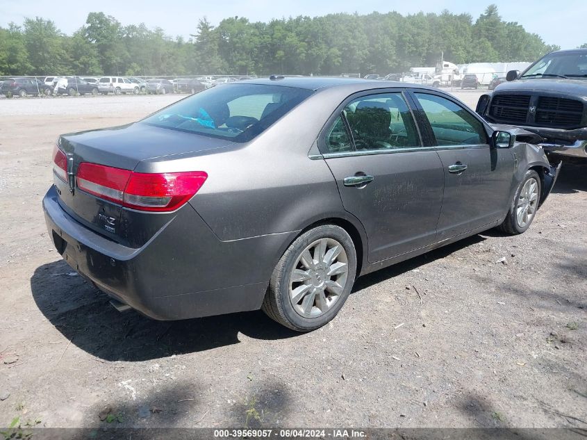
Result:
<svg viewBox="0 0 587 440"><path fill-rule="evenodd" d="M529 76L587 78L587 54L585 52L548 54L538 60L520 78Z"/></svg>

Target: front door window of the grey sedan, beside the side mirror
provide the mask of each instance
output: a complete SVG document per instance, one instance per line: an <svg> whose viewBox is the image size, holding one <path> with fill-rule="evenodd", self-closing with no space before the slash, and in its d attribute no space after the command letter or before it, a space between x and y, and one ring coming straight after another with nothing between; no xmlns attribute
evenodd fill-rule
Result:
<svg viewBox="0 0 587 440"><path fill-rule="evenodd" d="M449 99L415 93L436 138L436 145L481 145L487 143L483 124Z"/></svg>

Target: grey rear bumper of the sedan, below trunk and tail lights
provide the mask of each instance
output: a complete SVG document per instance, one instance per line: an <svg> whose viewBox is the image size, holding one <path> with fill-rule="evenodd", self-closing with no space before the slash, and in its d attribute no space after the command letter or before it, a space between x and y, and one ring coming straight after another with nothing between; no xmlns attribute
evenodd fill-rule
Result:
<svg viewBox="0 0 587 440"><path fill-rule="evenodd" d="M223 242L186 204L135 249L74 220L61 208L53 186L43 210L49 236L69 266L101 291L158 320L261 308L274 260L288 238L273 234Z"/></svg>

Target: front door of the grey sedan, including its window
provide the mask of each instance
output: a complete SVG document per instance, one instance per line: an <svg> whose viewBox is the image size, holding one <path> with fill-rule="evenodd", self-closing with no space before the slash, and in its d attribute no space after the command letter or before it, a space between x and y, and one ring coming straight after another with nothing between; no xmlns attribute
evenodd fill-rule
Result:
<svg viewBox="0 0 587 440"><path fill-rule="evenodd" d="M431 90L411 96L444 168L438 241L500 220L513 179L511 150L490 147L490 129L456 99Z"/></svg>

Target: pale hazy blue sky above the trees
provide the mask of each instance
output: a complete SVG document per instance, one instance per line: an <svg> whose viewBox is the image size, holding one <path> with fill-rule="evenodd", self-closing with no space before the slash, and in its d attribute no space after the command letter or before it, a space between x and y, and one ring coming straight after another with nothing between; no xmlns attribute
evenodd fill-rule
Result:
<svg viewBox="0 0 587 440"><path fill-rule="evenodd" d="M113 15L123 25L140 24L149 28L163 28L168 35L189 38L195 33L197 22L207 17L217 25L226 17L247 17L251 22L268 22L272 18L309 15L316 17L329 13L368 14L373 11L388 13L392 10L402 15L440 13L447 9L452 13L468 13L477 19L483 10L495 3L499 15L506 22L518 22L524 28L537 33L547 44L558 44L562 49L573 49L587 42L587 0L160 0L134 1L79 1L60 0L0 0L0 26L8 23L22 24L25 17L51 19L64 33L71 34L85 24L90 12ZM24 6L26 5L26 7Z"/></svg>

